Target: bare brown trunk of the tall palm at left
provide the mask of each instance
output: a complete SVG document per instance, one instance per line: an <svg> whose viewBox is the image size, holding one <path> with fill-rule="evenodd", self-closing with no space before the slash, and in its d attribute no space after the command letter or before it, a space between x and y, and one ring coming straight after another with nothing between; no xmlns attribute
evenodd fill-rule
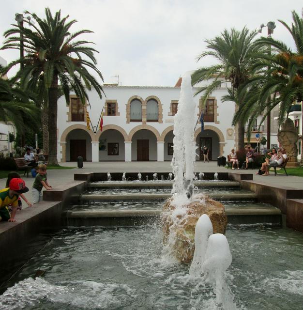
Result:
<svg viewBox="0 0 303 310"><path fill-rule="evenodd" d="M58 74L54 73L48 91L48 164L58 166L57 160Z"/></svg>

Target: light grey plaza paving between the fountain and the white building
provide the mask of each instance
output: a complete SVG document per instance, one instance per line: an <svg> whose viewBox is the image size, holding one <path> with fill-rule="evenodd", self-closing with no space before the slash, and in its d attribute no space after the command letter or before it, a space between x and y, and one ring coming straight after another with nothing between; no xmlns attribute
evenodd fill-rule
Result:
<svg viewBox="0 0 303 310"><path fill-rule="evenodd" d="M61 163L61 166L77 167L76 162ZM84 162L83 168L70 169L70 170L48 170L47 179L48 183L54 188L60 188L61 185L74 182L74 173L88 173L88 172L169 172L171 171L170 162L114 162L114 161L102 161L102 162ZM287 186L297 189L303 189L303 177L286 176L285 174L277 174L274 176L274 172L271 171L269 176L256 175L258 170L230 170L225 167L218 167L217 162L195 162L195 172L227 172L233 171L235 173L253 173L254 181L262 182L271 186ZM21 171L22 172L22 171ZM31 188L34 178L25 177L26 186ZM6 179L0 179L1 188L5 187ZM25 194L27 199L31 201L30 191ZM24 207L26 203L23 202Z"/></svg>

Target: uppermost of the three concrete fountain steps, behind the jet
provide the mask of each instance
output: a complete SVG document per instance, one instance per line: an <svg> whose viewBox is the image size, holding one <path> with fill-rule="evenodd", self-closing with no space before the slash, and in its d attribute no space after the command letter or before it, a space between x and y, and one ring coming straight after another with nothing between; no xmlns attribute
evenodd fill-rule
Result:
<svg viewBox="0 0 303 310"><path fill-rule="evenodd" d="M238 187L240 186L239 182L215 182L215 181L198 181L194 182L195 186L199 188L203 187ZM157 187L172 187L172 181L121 181L121 182L103 182L103 183L90 183L89 188L133 188L133 187L149 187L149 188L157 188Z"/></svg>

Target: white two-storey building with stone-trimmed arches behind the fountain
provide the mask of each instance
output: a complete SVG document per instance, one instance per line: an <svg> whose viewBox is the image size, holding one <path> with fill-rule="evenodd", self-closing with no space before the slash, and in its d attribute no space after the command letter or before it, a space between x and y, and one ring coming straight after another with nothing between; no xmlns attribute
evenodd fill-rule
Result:
<svg viewBox="0 0 303 310"><path fill-rule="evenodd" d="M209 82L207 82L209 83ZM86 126L86 113L75 95L70 104L58 102L58 161L170 161L173 148L174 114L180 97L181 79L175 87L104 85L102 99L89 93L89 112L94 133ZM195 89L194 89L195 92ZM236 146L236 129L231 126L233 102L222 102L226 87L212 93L203 108L204 131L198 121L195 130L196 160L204 145L210 158L229 154ZM202 108L201 95L195 96L197 120ZM96 128L104 107L103 130Z"/></svg>

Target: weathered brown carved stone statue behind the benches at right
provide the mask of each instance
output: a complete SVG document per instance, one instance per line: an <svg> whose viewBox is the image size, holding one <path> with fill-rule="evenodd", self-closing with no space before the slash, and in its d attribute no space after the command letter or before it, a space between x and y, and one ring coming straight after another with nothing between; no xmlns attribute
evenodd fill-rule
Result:
<svg viewBox="0 0 303 310"><path fill-rule="evenodd" d="M288 118L282 126L282 130L278 132L278 141L282 147L286 149L289 162L298 161L298 148L296 142L299 136L295 130L295 126L290 118Z"/></svg>

